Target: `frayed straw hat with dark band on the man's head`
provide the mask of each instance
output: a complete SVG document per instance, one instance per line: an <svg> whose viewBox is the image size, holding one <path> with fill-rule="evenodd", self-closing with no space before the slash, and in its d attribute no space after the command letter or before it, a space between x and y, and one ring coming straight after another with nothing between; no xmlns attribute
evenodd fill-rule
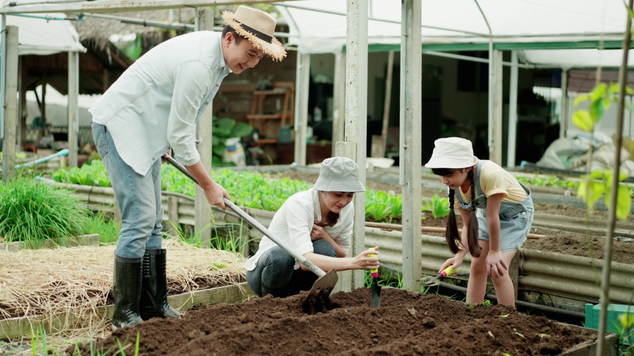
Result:
<svg viewBox="0 0 634 356"><path fill-rule="evenodd" d="M275 18L262 10L249 8L249 6L238 6L235 13L231 11L223 12L224 23L230 25L257 49L261 49L273 60L281 61L286 57L286 49L275 37Z"/></svg>

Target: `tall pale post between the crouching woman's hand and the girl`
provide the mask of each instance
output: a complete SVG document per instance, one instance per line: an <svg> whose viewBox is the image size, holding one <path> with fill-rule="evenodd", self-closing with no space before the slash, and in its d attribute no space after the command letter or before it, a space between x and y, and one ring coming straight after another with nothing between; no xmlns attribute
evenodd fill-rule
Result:
<svg viewBox="0 0 634 356"><path fill-rule="evenodd" d="M401 7L401 156L403 184L403 287L420 291L421 217L420 151L422 142L421 2L403 0ZM380 251L380 250L379 250Z"/></svg>

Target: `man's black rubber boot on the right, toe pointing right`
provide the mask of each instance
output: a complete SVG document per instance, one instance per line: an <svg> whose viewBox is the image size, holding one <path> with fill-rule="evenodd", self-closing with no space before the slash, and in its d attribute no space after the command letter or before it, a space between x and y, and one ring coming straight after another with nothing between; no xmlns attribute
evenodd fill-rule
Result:
<svg viewBox="0 0 634 356"><path fill-rule="evenodd" d="M141 318L143 320L176 318L177 312L167 303L167 274L165 255L167 250L145 250L143 255L143 288L141 289Z"/></svg>

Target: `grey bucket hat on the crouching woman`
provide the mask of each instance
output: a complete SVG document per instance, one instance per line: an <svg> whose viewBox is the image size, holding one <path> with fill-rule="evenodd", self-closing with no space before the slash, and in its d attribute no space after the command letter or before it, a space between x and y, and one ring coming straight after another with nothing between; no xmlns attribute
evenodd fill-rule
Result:
<svg viewBox="0 0 634 356"><path fill-rule="evenodd" d="M344 193L365 191L365 186L359 181L359 166L346 157L332 157L323 160L319 178L313 188L318 191Z"/></svg>

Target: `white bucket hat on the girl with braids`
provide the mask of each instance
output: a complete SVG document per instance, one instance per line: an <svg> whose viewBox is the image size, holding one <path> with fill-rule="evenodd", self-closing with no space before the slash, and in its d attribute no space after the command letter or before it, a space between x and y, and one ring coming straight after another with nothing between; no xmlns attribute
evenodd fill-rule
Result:
<svg viewBox="0 0 634 356"><path fill-rule="evenodd" d="M425 168L467 168L478 162L471 141L460 137L447 137L434 141L434 152Z"/></svg>

